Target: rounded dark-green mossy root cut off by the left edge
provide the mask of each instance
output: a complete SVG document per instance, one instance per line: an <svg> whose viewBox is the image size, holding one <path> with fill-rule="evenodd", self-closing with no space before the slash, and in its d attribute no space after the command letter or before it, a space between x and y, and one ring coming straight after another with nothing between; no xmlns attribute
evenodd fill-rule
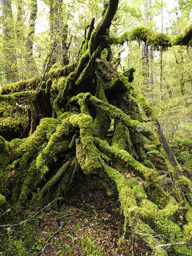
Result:
<svg viewBox="0 0 192 256"><path fill-rule="evenodd" d="M0 192L5 192L8 179L7 166L10 161L10 152L8 145L3 137L0 136ZM4 197L1 195L0 204L3 204Z"/></svg>

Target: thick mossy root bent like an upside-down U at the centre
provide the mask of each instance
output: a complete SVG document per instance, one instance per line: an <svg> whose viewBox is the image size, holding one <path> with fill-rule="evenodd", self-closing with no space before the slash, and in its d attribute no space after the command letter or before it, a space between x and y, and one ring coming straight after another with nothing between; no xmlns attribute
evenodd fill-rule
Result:
<svg viewBox="0 0 192 256"><path fill-rule="evenodd" d="M85 174L98 173L101 169L100 155L93 141L93 119L86 114L69 114L66 119L63 119L62 124L58 125L57 130L52 134L46 148L37 157L37 168L41 172L43 178L49 172L48 164L58 151L57 145L62 136L68 133L68 130L80 128L80 137L82 142L85 161L82 162L81 168ZM52 154L50 154L52 152ZM77 156L78 159L78 156Z"/></svg>

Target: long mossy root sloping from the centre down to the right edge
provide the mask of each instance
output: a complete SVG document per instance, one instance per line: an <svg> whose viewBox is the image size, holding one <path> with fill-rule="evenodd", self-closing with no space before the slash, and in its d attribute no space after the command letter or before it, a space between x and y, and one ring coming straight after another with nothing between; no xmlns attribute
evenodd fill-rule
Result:
<svg viewBox="0 0 192 256"><path fill-rule="evenodd" d="M172 185L175 188L175 192L178 195L178 200L183 201L183 199L186 197L187 200L191 203L192 205L192 197L191 192L192 192L192 186L190 185L190 181L182 175L180 171L180 166L175 160L175 157L165 141L161 140L162 139L162 132L159 133L157 136L156 133L152 131L148 131L146 129L145 125L140 123L137 120L132 120L129 116L125 115L123 111L120 109L116 108L113 105L110 105L108 103L105 103L96 97L92 96L90 93L86 93L86 99L91 102L96 108L100 109L101 112L107 114L111 118L115 118L117 120L120 120L122 123L124 123L128 128L131 128L133 131L137 131L138 126L142 126L143 131L141 132L145 137L147 137L149 140L153 141L153 143L156 145L157 148L161 148L161 153L165 152L164 159L166 163L168 164L169 168L169 173L170 176L172 177ZM157 120L156 120L157 123ZM158 132L157 132L158 134ZM159 138L158 138L159 137ZM164 137L164 136L163 136ZM161 146L161 143L163 144ZM183 182L185 179L185 182Z"/></svg>

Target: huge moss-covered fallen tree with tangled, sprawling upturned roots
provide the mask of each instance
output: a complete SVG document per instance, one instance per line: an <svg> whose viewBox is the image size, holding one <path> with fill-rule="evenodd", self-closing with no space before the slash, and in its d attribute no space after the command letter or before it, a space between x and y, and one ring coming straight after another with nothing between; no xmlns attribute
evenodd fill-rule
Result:
<svg viewBox="0 0 192 256"><path fill-rule="evenodd" d="M0 131L0 204L8 202L17 209L33 205L54 187L50 200L57 208L77 172L95 176L111 194L100 176L104 172L116 184L125 217L119 244L131 227L153 249L153 255L166 255L163 244L167 241L177 255L191 255L192 183L183 176L153 109L131 84L135 69L119 73L110 66L110 45L143 40L157 49L191 46L192 28L169 37L139 27L110 38L117 6L118 0L110 0L95 28L92 20L75 63L64 67L56 64L45 76L1 87L4 112L11 106L15 123L5 117ZM156 133L146 128L140 108L156 125ZM113 130L109 129L111 120L115 120ZM12 128L18 126L25 127L22 132L28 137L12 139L18 136ZM162 177L147 160L144 137L164 158L174 189L172 196L160 186ZM127 169L144 179L144 184L134 178L126 180L122 172ZM10 191L11 175L15 181ZM185 212L187 224L182 229L174 220L177 210Z"/></svg>

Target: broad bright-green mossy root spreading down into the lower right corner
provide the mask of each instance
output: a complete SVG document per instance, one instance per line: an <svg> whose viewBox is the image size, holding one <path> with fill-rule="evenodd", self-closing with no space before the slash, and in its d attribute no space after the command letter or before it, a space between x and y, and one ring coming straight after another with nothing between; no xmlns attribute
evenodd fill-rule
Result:
<svg viewBox="0 0 192 256"><path fill-rule="evenodd" d="M125 216L125 223L124 223L124 236L127 232L127 224L131 226L132 221L134 220L135 223L139 223L138 229L135 229L138 233L146 234L148 231L148 225L143 223L142 219L151 220L159 234L163 234L166 237L172 238L174 231L175 233L175 241L182 241L184 238L184 234L181 232L180 227L173 223L168 217L172 216L172 214L177 210L175 200L171 198L169 204L164 208L164 210L158 210L156 204L153 204L151 201L146 199L146 194L144 189L137 183L137 180L130 179L127 181L123 174L112 169L111 167L107 166L103 162L103 170L107 173L108 177L116 183L117 190L119 192L119 198L121 202L122 211ZM166 212L166 213L165 213ZM165 213L165 214L164 214ZM146 229L145 229L146 228ZM155 232L150 229L150 233L154 234ZM122 237L122 239L124 238ZM156 245L155 239L146 238L147 242L153 249ZM158 247L159 248L159 247ZM156 249L156 253L164 253L164 251ZM179 253L179 255L191 255L190 250L187 248L186 245L177 245L175 246L175 250ZM156 255L164 255L164 254L156 254Z"/></svg>

